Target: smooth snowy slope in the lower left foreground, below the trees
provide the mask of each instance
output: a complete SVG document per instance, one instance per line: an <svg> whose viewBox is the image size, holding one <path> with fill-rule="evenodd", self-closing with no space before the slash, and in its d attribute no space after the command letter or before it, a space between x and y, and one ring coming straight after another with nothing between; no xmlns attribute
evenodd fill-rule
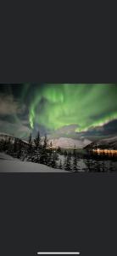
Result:
<svg viewBox="0 0 117 256"><path fill-rule="evenodd" d="M67 172L48 166L14 159L8 154L0 153L0 172Z"/></svg>

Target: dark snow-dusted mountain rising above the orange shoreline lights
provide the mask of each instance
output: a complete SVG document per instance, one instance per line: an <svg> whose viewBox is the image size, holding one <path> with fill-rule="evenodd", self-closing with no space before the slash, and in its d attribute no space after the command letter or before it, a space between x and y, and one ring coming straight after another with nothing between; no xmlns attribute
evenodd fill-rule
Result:
<svg viewBox="0 0 117 256"><path fill-rule="evenodd" d="M109 137L102 140L97 140L86 146L87 149L91 148L106 148L117 149L117 137Z"/></svg>

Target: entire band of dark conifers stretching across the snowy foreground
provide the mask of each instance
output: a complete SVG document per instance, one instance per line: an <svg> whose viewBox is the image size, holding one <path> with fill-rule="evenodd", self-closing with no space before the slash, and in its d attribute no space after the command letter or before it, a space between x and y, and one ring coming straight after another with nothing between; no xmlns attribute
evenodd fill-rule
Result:
<svg viewBox="0 0 117 256"><path fill-rule="evenodd" d="M42 142L39 131L34 139L30 134L28 143L20 138L4 137L0 141L0 151L22 161L31 161L69 172L114 172L113 162L117 160L115 156L112 161L109 155L98 155L90 151L82 154L76 148L72 151L54 148L53 143L48 143L46 135ZM79 164L80 160L85 166ZM109 168L105 164L107 160L110 160Z"/></svg>

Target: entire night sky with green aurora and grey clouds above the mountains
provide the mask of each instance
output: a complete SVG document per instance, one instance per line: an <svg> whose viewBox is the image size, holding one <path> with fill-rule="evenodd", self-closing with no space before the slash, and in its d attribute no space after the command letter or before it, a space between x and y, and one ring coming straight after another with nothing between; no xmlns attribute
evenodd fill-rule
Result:
<svg viewBox="0 0 117 256"><path fill-rule="evenodd" d="M0 84L0 132L117 135L117 84Z"/></svg>

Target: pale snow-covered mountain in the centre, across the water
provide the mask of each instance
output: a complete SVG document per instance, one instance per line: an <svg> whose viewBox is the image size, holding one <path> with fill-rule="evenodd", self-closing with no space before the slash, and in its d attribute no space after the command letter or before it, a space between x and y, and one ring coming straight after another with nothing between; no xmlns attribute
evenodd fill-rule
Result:
<svg viewBox="0 0 117 256"><path fill-rule="evenodd" d="M55 148L84 148L86 145L92 143L88 139L75 140L69 137L59 137L49 139L49 143L53 143L53 147Z"/></svg>

